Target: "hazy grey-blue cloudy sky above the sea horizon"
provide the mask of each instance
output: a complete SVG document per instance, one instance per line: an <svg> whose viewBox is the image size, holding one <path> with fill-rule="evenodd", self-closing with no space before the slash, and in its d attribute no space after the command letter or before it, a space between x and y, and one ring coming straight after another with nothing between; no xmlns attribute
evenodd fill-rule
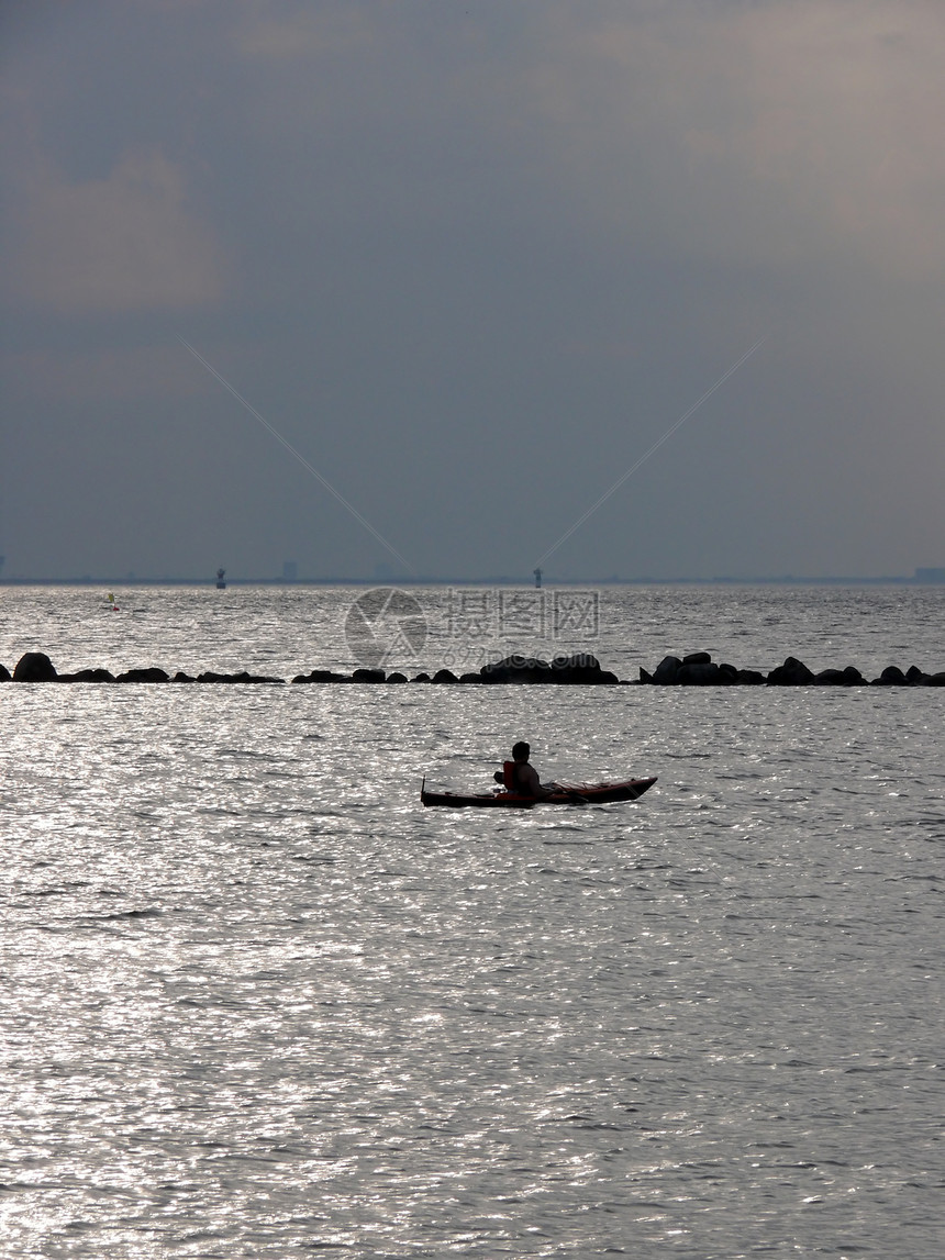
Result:
<svg viewBox="0 0 945 1260"><path fill-rule="evenodd" d="M4 577L945 566L936 0L4 0L0 105Z"/></svg>

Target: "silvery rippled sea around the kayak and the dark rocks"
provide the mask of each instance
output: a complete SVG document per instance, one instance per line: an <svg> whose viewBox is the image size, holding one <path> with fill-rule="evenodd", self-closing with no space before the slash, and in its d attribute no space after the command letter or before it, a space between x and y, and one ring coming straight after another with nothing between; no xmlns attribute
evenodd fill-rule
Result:
<svg viewBox="0 0 945 1260"><path fill-rule="evenodd" d="M945 1254L942 586L5 586L0 1255ZM639 801L425 809L543 779Z"/></svg>

